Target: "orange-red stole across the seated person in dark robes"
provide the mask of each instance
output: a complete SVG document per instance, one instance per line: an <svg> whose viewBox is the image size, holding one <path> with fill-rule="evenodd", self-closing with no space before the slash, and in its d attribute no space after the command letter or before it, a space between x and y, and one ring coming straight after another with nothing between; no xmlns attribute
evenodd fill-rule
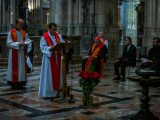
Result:
<svg viewBox="0 0 160 120"><path fill-rule="evenodd" d="M102 42L97 48L95 48L96 44L93 44L93 46L91 48L91 57L85 63L85 71L90 71L91 63L95 59L95 56L97 56L99 54L103 45L104 45L104 43Z"/></svg>

